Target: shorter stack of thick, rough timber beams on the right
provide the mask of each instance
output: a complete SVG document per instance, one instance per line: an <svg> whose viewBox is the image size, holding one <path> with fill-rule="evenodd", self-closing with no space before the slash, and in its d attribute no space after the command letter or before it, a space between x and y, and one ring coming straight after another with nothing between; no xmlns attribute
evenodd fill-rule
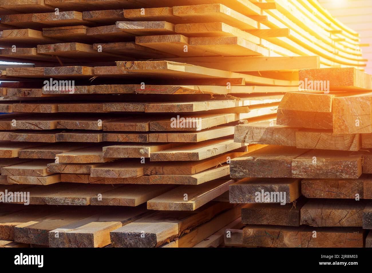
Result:
<svg viewBox="0 0 372 273"><path fill-rule="evenodd" d="M230 202L249 204L232 232L248 246L372 247L372 76L320 68L299 80L329 92L308 84L284 95L276 120L235 127L235 142L267 146L231 160L231 178L243 179ZM285 193L285 204L256 192Z"/></svg>

